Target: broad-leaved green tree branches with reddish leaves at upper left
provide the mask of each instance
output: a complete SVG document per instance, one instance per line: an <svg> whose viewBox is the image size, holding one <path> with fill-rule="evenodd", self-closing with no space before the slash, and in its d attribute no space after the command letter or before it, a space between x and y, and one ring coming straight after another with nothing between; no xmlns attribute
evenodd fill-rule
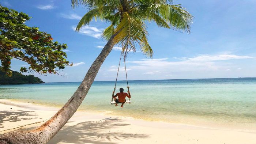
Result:
<svg viewBox="0 0 256 144"><path fill-rule="evenodd" d="M66 44L53 42L50 34L39 31L37 27L28 27L24 23L30 17L0 5L0 60L1 70L8 76L11 59L27 62L30 67L20 68L21 72L58 73L69 65Z"/></svg>

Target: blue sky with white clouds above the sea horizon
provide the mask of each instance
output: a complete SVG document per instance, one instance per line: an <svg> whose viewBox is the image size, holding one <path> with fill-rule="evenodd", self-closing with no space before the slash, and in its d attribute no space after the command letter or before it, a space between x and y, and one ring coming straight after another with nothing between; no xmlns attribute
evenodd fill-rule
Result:
<svg viewBox="0 0 256 144"><path fill-rule="evenodd" d="M131 53L127 61L129 80L197 79L256 77L256 1L255 0L177 0L175 4L194 16L191 34L147 24L153 59L142 53ZM54 41L67 43L68 60L74 63L59 75L42 76L45 82L80 82L105 45L100 35L108 23L93 21L80 33L74 31L87 12L83 7L71 8L62 0L1 0L1 5L24 12L32 18L28 26L39 27L52 34ZM98 72L96 81L115 80L120 48L114 47ZM27 67L12 60L12 69ZM118 80L125 80L121 64Z"/></svg>

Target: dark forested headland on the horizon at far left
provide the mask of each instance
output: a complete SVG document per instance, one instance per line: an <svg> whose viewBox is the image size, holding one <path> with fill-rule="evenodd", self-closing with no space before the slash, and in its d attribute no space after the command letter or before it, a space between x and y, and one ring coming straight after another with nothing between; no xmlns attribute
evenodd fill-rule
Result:
<svg viewBox="0 0 256 144"><path fill-rule="evenodd" d="M0 67L1 68L1 67ZM33 84L33 83L44 83L38 77L33 75L22 75L19 72L11 71L12 76L9 77L5 72L0 70L0 84Z"/></svg>

